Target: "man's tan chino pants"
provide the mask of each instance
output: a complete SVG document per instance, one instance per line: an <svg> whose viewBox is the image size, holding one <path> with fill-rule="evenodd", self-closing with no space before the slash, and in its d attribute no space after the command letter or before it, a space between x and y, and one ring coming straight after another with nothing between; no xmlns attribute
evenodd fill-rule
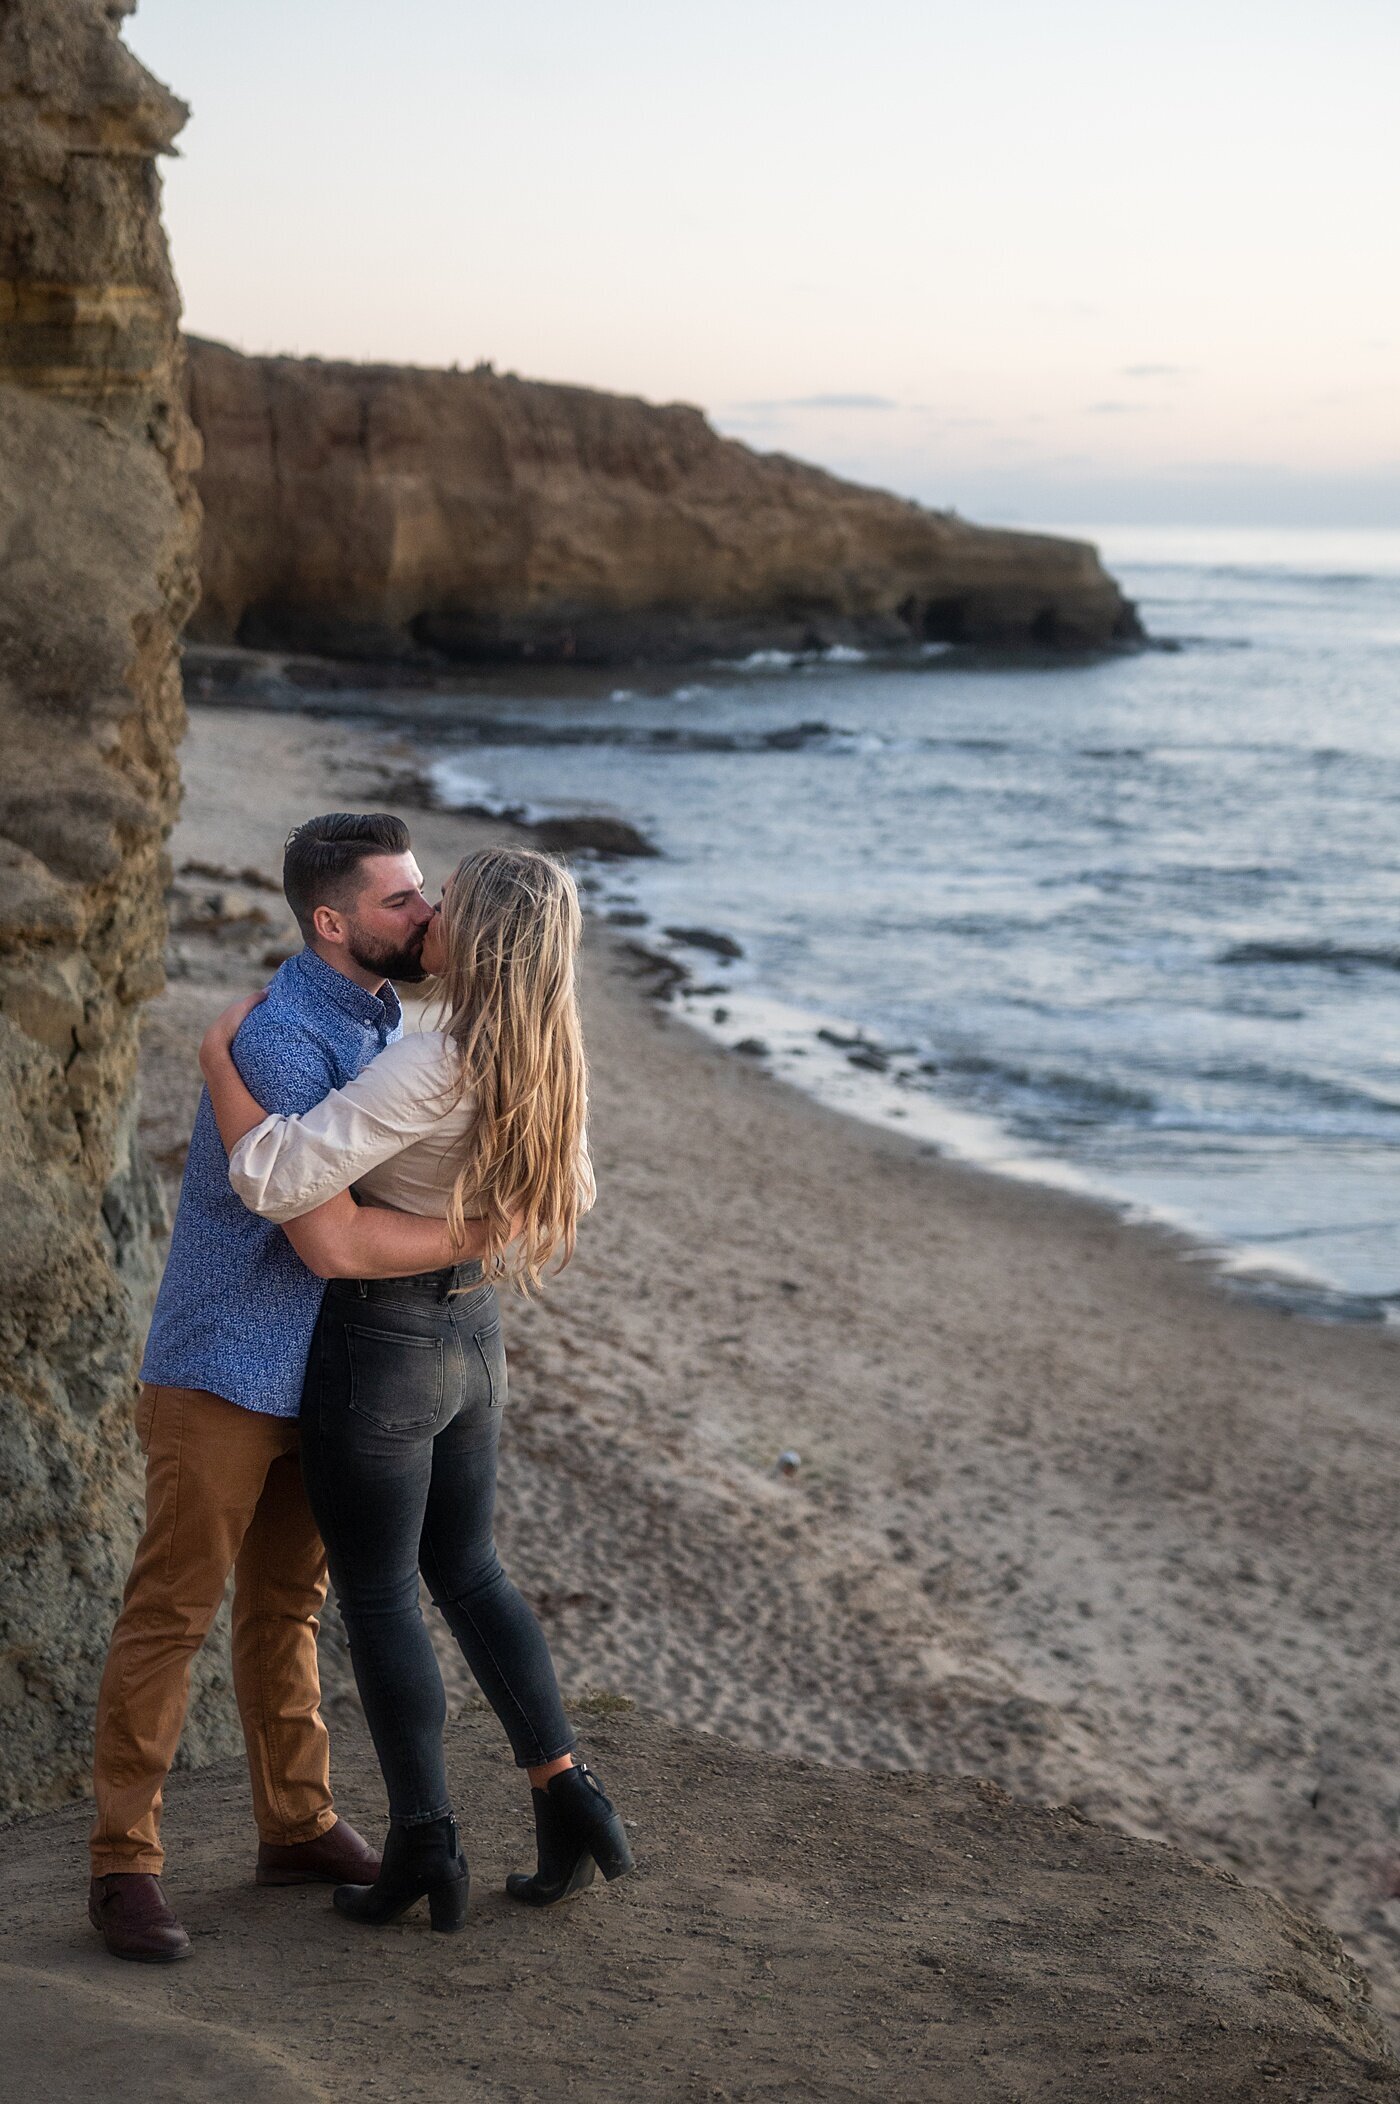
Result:
<svg viewBox="0 0 1400 2104"><path fill-rule="evenodd" d="M297 1420L202 1389L141 1389L145 1534L97 1698L93 1875L160 1873L160 1801L189 1666L234 1572L234 1694L263 1841L335 1824L320 1721L326 1553L301 1488Z"/></svg>

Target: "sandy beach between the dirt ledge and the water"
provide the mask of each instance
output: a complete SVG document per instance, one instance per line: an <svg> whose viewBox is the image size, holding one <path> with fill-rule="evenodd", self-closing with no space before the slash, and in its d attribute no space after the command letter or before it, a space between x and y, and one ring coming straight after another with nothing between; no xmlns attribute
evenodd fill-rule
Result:
<svg viewBox="0 0 1400 2104"><path fill-rule="evenodd" d="M276 882L307 812L394 804L411 757L194 711L143 1079L173 1189L198 1033L282 924L242 873ZM434 886L488 835L404 814ZM200 930L223 879L192 863L242 888L227 926ZM832 1115L648 987L594 922L600 1201L505 1309L501 1544L566 1687L1171 1839L1335 1927L1400 2018L1394 1336L1253 1307L1168 1235ZM345 1715L333 1624L324 1671Z"/></svg>

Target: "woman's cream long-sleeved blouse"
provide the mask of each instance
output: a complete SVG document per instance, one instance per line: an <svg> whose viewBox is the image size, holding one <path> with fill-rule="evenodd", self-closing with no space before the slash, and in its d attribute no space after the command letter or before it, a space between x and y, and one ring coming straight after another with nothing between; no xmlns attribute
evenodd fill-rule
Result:
<svg viewBox="0 0 1400 2104"><path fill-rule="evenodd" d="M455 1044L415 1031L299 1117L265 1117L229 1159L229 1182L263 1220L299 1220L337 1191L396 1212L446 1216L476 1107L461 1092ZM594 1203L587 1140L579 1210Z"/></svg>

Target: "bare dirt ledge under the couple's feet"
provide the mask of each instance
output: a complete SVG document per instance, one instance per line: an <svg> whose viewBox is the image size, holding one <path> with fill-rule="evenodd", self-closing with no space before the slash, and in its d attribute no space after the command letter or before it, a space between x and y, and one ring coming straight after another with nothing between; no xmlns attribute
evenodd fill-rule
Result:
<svg viewBox="0 0 1400 2104"><path fill-rule="evenodd" d="M181 1776L181 1965L118 1965L80 1908L86 1807L0 1837L4 2096L51 2104L1242 2104L1400 2096L1326 1934L1171 1849L985 1782L792 1765L615 1706L579 1715L638 1875L533 1915L520 1778L451 1727L461 1936L324 1887L259 1891L238 1765ZM337 1738L373 1830L364 1734Z"/></svg>

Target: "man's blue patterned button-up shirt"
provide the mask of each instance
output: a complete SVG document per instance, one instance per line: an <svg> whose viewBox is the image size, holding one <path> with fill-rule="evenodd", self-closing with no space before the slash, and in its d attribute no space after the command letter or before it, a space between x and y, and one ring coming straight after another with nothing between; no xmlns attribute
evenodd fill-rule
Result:
<svg viewBox="0 0 1400 2104"><path fill-rule="evenodd" d="M234 1058L263 1109L286 1117L354 1081L402 1035L394 987L364 993L303 949L238 1031ZM141 1380L295 1418L324 1290L282 1229L234 1195L204 1090Z"/></svg>

